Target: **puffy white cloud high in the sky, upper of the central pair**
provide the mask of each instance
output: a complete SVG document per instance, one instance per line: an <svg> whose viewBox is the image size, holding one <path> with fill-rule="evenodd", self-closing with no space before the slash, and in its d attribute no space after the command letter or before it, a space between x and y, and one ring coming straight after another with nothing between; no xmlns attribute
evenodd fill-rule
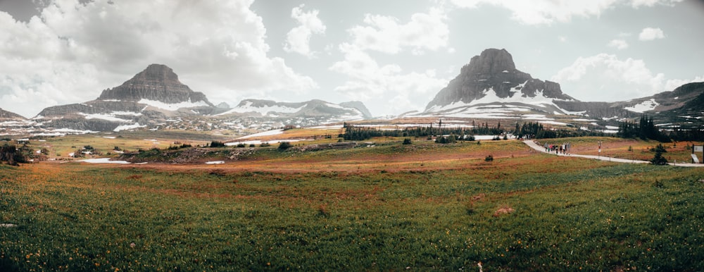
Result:
<svg viewBox="0 0 704 272"><path fill-rule="evenodd" d="M450 30L446 20L439 8L431 8L429 13L415 13L405 24L391 16L367 14L365 25L352 27L348 32L353 37L352 43L362 50L397 54L404 47L410 47L413 54L423 54L425 50L447 47Z"/></svg>

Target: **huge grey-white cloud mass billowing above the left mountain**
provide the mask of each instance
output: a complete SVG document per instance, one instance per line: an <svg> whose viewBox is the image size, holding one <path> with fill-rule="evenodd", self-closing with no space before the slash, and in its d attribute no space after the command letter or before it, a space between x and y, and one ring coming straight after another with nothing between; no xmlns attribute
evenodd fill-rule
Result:
<svg viewBox="0 0 704 272"><path fill-rule="evenodd" d="M28 23L0 12L0 99L26 105L4 109L33 116L94 99L150 63L170 66L213 101L317 87L282 58L267 56L266 29L252 2L56 0Z"/></svg>

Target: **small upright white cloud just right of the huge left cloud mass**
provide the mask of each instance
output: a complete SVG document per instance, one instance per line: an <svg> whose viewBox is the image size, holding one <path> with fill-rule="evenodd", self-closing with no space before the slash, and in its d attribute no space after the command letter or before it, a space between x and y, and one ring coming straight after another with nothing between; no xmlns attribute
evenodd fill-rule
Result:
<svg viewBox="0 0 704 272"><path fill-rule="evenodd" d="M303 6L301 4L291 10L291 18L296 19L300 25L287 33L284 51L311 57L313 52L310 51L310 37L313 34L325 33L326 27L318 18L318 10L303 12Z"/></svg>

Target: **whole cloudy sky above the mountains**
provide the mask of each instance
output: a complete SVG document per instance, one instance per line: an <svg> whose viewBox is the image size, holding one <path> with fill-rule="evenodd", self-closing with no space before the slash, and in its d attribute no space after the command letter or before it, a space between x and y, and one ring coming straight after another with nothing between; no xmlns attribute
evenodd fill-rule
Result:
<svg viewBox="0 0 704 272"><path fill-rule="evenodd" d="M582 101L704 81L699 0L0 0L0 108L96 99L150 63L210 101L425 109L487 48Z"/></svg>

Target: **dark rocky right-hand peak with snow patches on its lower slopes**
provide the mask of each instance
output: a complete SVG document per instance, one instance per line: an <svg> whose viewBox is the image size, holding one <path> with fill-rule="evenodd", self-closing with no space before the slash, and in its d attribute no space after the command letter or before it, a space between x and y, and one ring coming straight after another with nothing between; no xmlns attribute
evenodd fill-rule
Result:
<svg viewBox="0 0 704 272"><path fill-rule="evenodd" d="M472 57L470 63L460 69L460 75L440 90L426 110L459 101L470 103L484 97L484 92L488 89L494 89L496 96L500 98L515 95L536 97L538 92L542 92L544 97L574 100L562 93L557 82L535 79L530 74L517 70L513 56L505 49L486 49L479 56ZM516 90L520 93L514 93Z"/></svg>

